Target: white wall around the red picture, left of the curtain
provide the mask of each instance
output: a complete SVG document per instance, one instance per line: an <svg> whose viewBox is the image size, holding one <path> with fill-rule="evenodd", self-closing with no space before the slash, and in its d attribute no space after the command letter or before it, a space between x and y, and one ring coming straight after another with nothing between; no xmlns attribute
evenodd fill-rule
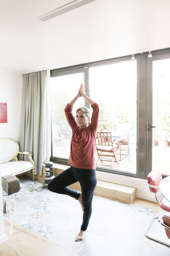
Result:
<svg viewBox="0 0 170 256"><path fill-rule="evenodd" d="M7 103L7 123L0 123L0 138L20 142L22 75L0 70L0 102Z"/></svg>

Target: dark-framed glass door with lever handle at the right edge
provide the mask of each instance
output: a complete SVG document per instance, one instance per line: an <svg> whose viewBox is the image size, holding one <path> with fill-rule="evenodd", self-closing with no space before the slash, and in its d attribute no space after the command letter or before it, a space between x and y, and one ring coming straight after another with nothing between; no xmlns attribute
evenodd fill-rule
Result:
<svg viewBox="0 0 170 256"><path fill-rule="evenodd" d="M148 60L148 171L170 174L170 55ZM152 74L152 75L151 75ZM152 127L150 127L152 126Z"/></svg>

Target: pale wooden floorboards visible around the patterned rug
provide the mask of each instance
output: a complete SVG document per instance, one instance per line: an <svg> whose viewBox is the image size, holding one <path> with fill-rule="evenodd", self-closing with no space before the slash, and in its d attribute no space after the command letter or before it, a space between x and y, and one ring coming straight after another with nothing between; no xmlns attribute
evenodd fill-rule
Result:
<svg viewBox="0 0 170 256"><path fill-rule="evenodd" d="M143 199L136 198L133 204L161 211L158 203ZM78 255L15 222L13 222L13 232L10 235L10 221L6 218L4 218L4 229L8 240L0 245L1 256Z"/></svg>

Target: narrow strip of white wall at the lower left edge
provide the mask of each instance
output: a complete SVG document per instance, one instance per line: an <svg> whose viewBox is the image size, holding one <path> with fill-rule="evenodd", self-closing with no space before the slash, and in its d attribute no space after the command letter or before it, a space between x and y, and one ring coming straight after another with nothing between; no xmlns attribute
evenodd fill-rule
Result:
<svg viewBox="0 0 170 256"><path fill-rule="evenodd" d="M0 245L7 241L7 235L4 233L3 218L3 200L2 200L2 184L1 184L1 164L0 164Z"/></svg>

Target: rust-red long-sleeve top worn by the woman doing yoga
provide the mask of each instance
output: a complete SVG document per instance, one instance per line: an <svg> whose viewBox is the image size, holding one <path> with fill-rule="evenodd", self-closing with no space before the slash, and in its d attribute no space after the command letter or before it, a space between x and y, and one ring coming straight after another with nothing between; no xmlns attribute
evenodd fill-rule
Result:
<svg viewBox="0 0 170 256"><path fill-rule="evenodd" d="M72 129L69 164L75 168L94 170L96 169L96 134L99 124L99 106L97 103L91 105L93 112L91 123L85 129L81 129L72 114L73 106L67 104L65 116Z"/></svg>

